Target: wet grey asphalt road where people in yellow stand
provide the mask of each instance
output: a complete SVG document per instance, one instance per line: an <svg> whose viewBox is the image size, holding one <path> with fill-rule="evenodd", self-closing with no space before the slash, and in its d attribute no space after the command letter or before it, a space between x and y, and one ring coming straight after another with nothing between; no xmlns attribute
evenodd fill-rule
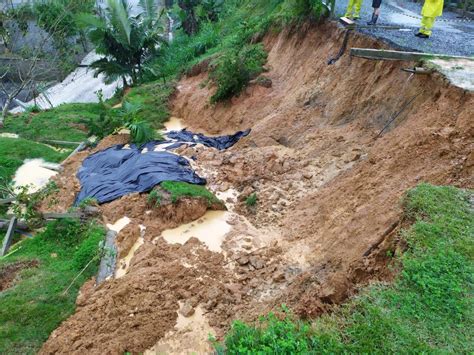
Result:
<svg viewBox="0 0 474 355"><path fill-rule="evenodd" d="M336 15L343 16L348 0L336 0ZM415 37L421 19L422 4L406 0L383 0L378 25L399 25L402 30L360 29L362 33L383 39L400 50L437 54L474 56L474 20L461 20L458 14L444 11L438 17L429 39ZM364 0L361 19L366 25L372 16L372 1Z"/></svg>

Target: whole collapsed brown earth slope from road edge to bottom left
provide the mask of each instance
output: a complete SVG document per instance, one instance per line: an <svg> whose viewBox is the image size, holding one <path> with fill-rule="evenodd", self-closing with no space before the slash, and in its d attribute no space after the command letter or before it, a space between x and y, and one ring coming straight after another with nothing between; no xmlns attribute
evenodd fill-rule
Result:
<svg viewBox="0 0 474 355"><path fill-rule="evenodd" d="M344 56L328 66L342 36L324 25L267 37L272 87L252 85L232 104L208 104L206 73L180 82L173 111L187 126L210 133L252 128L225 152L181 150L197 158L211 189L240 194L228 200L232 230L223 251L195 238L168 244L162 231L185 221L174 221L174 212L173 223L146 217L144 196L104 206L111 223L133 220L130 233L119 236L123 245L135 243L139 225L147 228L145 242L122 278L84 286L76 314L43 353L203 351L205 337L179 327L193 309L204 314L202 333L222 335L233 319L255 319L283 302L317 315L357 284L389 277L385 255L394 248L403 193L421 181L473 186L474 97L439 75L401 72L407 63ZM360 35L349 46L380 47ZM249 209L243 200L253 192L258 202Z"/></svg>

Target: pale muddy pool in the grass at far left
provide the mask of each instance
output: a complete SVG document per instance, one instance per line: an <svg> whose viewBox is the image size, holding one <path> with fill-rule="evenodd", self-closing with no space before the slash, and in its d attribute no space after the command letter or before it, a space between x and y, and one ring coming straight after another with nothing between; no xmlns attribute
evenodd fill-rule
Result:
<svg viewBox="0 0 474 355"><path fill-rule="evenodd" d="M14 187L18 190L21 186L28 186L29 192L41 190L48 184L49 179L57 174L56 171L46 169L43 159L25 160L25 163L15 173Z"/></svg>

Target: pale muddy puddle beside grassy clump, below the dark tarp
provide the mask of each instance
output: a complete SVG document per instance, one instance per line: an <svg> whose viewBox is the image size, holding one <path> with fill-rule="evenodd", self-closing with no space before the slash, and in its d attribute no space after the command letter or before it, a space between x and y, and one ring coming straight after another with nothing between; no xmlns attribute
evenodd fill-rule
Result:
<svg viewBox="0 0 474 355"><path fill-rule="evenodd" d="M184 224L178 228L168 229L162 233L163 238L170 244L183 245L192 237L199 239L209 250L220 253L225 235L231 226L227 223L229 212L208 211L197 221Z"/></svg>

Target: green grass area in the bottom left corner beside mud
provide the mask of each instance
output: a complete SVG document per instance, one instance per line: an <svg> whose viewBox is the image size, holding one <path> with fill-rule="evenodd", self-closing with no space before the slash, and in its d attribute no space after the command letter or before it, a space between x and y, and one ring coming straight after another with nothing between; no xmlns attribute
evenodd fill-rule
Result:
<svg viewBox="0 0 474 355"><path fill-rule="evenodd" d="M104 230L94 224L54 222L21 249L0 259L0 268L18 261L38 260L24 269L16 284L0 292L0 353L34 354L75 309L80 286L97 272L95 260L67 294L64 290L96 258ZM96 258L98 259L98 258Z"/></svg>

